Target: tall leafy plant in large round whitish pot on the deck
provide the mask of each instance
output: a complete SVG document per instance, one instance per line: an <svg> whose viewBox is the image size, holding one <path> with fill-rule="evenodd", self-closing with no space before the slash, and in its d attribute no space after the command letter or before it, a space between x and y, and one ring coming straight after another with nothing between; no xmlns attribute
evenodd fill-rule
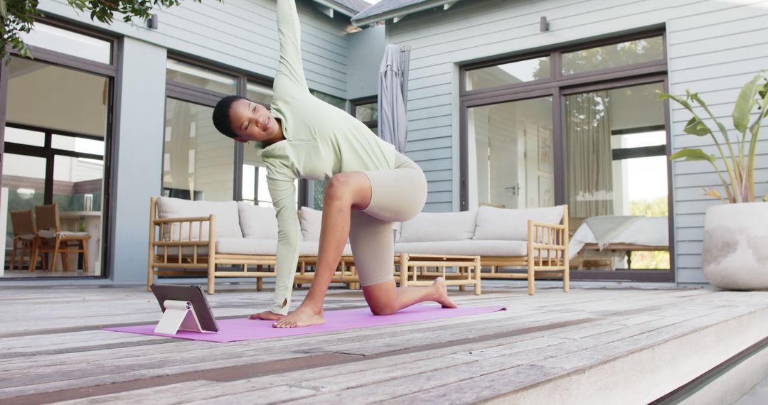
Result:
<svg viewBox="0 0 768 405"><path fill-rule="evenodd" d="M684 97L660 93L693 115L684 131L697 137L710 136L720 156L701 149L683 149L670 159L706 160L723 183L725 196L716 188L705 195L726 202L707 209L701 267L710 284L719 288L754 290L768 288L768 194L755 195L755 152L760 127L768 117L768 75L760 71L741 88L733 107L733 130L712 114L697 93ZM699 108L694 110L694 105ZM756 110L756 114L753 112ZM715 124L712 130L698 112ZM750 123L753 114L754 119ZM719 164L718 164L719 163ZM762 199L763 202L756 202Z"/></svg>

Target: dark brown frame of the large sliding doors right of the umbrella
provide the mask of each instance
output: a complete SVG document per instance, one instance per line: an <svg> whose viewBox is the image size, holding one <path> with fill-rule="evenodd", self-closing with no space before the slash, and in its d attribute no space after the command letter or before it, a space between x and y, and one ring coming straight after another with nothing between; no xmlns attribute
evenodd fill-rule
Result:
<svg viewBox="0 0 768 405"><path fill-rule="evenodd" d="M633 41L642 38L662 37L664 44L664 58L660 61L643 62L621 67L611 67L596 71L582 72L579 74L561 74L561 54L581 49L590 49L607 44L619 44L625 41ZM534 51L518 54L514 57L497 58L493 61L483 61L465 64L459 67L459 209L468 209L468 182L476 181L468 178L468 109L490 104L499 104L508 101L526 100L535 97L553 97L553 137L554 137L554 204L560 205L565 201L564 184L564 96L584 93L588 91L609 90L618 87L628 87L641 84L661 83L664 91L669 89L667 74L667 33L663 28L641 31L629 35L617 35L611 38L603 38L594 41L584 41L579 44L568 45L561 48L552 48L549 51ZM541 80L511 84L500 87L490 87L475 91L465 90L466 71L472 68L488 67L495 64L505 64L511 61L521 61L551 54L551 68L554 69L551 80ZM671 154L669 101L664 100L664 123L666 133L665 153ZM667 160L667 195L673 196L672 190L672 163ZM674 217L674 199L667 201L667 212L670 218ZM580 270L571 272L571 279L584 280L615 280L637 282L674 282L675 280L675 245L674 226L669 221L667 231L670 235L670 269L659 270L624 270L605 272L601 270Z"/></svg>

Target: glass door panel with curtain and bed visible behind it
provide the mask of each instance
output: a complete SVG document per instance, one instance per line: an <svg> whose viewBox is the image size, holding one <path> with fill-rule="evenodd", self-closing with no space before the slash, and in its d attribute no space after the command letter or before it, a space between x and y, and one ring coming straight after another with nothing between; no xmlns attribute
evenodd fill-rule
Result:
<svg viewBox="0 0 768 405"><path fill-rule="evenodd" d="M667 136L657 90L661 83L565 97L574 270L670 268Z"/></svg>

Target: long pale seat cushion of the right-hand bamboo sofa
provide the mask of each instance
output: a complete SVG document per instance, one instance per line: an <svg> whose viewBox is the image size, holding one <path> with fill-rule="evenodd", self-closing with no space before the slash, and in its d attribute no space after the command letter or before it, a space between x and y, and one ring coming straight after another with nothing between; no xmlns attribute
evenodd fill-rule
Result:
<svg viewBox="0 0 768 405"><path fill-rule="evenodd" d="M445 242L399 242L396 253L429 255L525 256L528 243L524 241L462 240Z"/></svg>

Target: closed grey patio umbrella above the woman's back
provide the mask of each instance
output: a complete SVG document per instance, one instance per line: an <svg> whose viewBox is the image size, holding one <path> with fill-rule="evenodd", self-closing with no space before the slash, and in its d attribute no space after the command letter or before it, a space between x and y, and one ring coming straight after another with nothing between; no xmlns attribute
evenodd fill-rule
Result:
<svg viewBox="0 0 768 405"><path fill-rule="evenodd" d="M389 44L379 67L379 137L406 151L409 48Z"/></svg>

